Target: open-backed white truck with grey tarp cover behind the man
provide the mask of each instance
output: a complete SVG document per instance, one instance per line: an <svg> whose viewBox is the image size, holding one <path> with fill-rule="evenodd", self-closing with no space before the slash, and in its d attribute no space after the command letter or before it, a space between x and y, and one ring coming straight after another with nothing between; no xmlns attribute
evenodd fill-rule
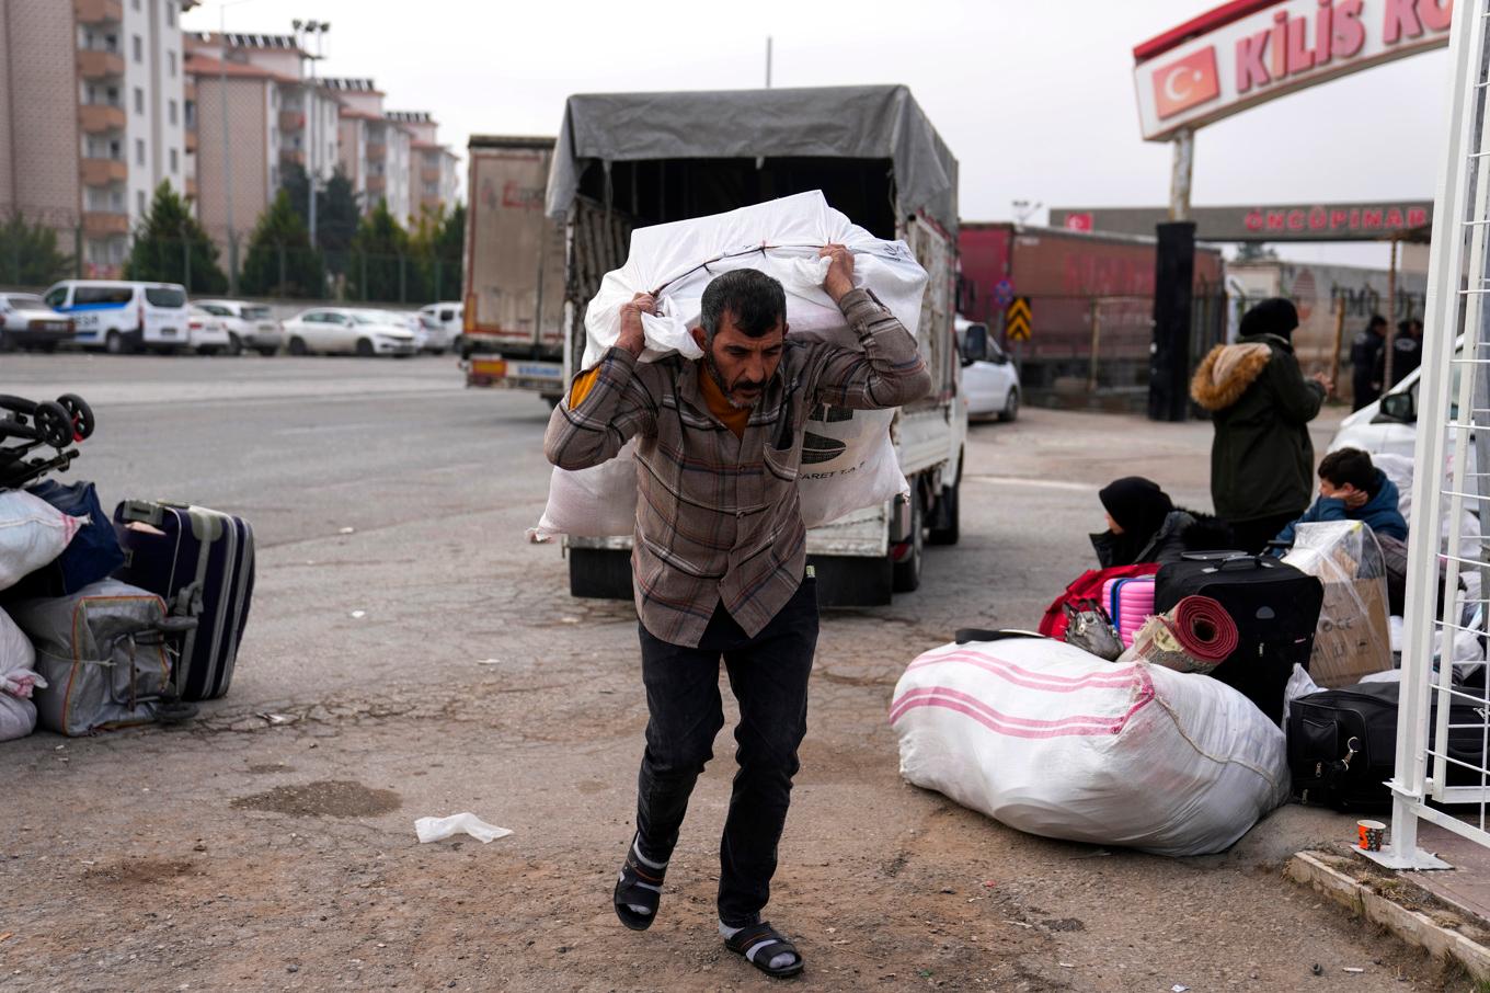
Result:
<svg viewBox="0 0 1490 993"><path fill-rule="evenodd" d="M586 353L586 309L626 262L632 230L811 191L870 234L904 242L930 276L918 343L933 389L890 428L909 492L808 532L824 604L888 604L919 586L925 544L958 538L967 437L954 331L957 160L907 88L569 97L547 197L566 231L565 380ZM846 413L824 406L814 420ZM630 544L569 537L571 593L629 598Z"/></svg>

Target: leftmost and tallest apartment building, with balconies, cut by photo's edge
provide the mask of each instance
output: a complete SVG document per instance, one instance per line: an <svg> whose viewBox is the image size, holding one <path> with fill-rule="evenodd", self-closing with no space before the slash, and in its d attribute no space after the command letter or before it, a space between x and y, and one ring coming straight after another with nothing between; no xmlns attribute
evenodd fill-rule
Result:
<svg viewBox="0 0 1490 993"><path fill-rule="evenodd" d="M180 15L197 0L0 0L0 215L118 274L155 186L186 189Z"/></svg>

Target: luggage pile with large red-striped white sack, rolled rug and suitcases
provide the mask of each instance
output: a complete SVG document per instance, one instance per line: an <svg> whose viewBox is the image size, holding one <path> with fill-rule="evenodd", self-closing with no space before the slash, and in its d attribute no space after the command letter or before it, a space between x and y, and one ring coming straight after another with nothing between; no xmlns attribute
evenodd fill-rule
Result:
<svg viewBox="0 0 1490 993"><path fill-rule="evenodd" d="M1039 634L963 631L910 663L901 774L1021 830L1173 856L1229 847L1290 795L1390 805L1387 602L1360 522L1301 525L1281 559L1086 573Z"/></svg>

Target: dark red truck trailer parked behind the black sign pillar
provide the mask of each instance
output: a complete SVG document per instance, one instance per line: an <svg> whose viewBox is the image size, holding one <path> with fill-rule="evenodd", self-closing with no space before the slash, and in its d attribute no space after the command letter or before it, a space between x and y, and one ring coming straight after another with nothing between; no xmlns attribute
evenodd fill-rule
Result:
<svg viewBox="0 0 1490 993"><path fill-rule="evenodd" d="M1147 385L1155 239L964 221L958 249L960 312L1003 337L1019 359L1025 397L1135 392ZM1198 361L1225 338L1219 250L1195 250L1193 291L1191 355ZM1012 295L1030 301L1027 341L1006 334L1004 301Z"/></svg>

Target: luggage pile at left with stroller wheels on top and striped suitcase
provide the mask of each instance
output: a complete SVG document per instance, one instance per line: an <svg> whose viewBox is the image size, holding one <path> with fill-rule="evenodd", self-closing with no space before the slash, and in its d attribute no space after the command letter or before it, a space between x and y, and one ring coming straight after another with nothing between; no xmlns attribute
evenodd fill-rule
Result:
<svg viewBox="0 0 1490 993"><path fill-rule="evenodd" d="M253 595L253 531L127 499L66 471L94 431L74 395L0 397L0 741L180 722L228 692Z"/></svg>

